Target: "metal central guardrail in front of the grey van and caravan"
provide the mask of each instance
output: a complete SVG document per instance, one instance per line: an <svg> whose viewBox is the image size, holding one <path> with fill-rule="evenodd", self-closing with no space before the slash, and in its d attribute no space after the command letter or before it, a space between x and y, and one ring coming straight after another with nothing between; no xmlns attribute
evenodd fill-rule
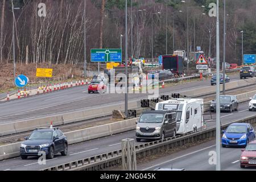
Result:
<svg viewBox="0 0 256 182"><path fill-rule="evenodd" d="M256 123L256 117L247 117L239 119L234 122L222 125L222 130L226 129L231 123ZM197 133L180 135L178 137L166 138L154 142L143 143L135 146L137 158L159 154L161 151L166 151L169 148L175 148L190 144L193 142L200 142L202 140L216 136L216 129L207 129L198 131ZM65 170L81 170L81 171L94 171L102 170L108 167L117 166L122 163L122 150L116 150L101 155L92 156L85 159L75 160L73 162L57 165L43 169L42 171L65 171Z"/></svg>

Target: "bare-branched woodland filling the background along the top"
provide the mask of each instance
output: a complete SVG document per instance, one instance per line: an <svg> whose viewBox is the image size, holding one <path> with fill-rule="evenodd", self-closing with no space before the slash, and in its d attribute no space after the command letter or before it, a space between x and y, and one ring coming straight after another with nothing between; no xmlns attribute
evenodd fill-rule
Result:
<svg viewBox="0 0 256 182"><path fill-rule="evenodd" d="M172 53L173 49L186 49L187 7L202 5L205 8L188 9L189 46L191 46L191 51L195 49L193 41L195 19L195 46L201 46L206 55L210 52L210 57L215 57L216 18L210 18L208 15L208 5L215 1L187 0L185 3L177 3L177 1L133 0L131 5L131 0L128 0L129 57L131 52L134 56L151 57L152 23L154 25L154 56L166 53L166 16L168 53ZM12 63L13 60L13 17L16 59L19 63L83 63L84 0L13 0L14 7L20 7L20 10L14 10L14 14L11 2L11 0L1 0L0 3L1 64ZM46 3L46 17L38 16L38 4L41 2ZM131 6L134 11L133 18ZM220 6L222 45L224 19L222 1L220 1ZM226 7L228 14L226 60L228 63L241 64L241 30L244 31L244 53L256 53L256 1L226 0ZM160 14L155 14L151 18L152 13L158 11ZM131 50L131 27L133 27L133 50ZM173 28L175 48L172 46ZM88 55L86 59L88 63L91 48L119 48L121 34L125 34L125 0L86 0L86 52ZM124 49L124 37L122 41ZM28 49L27 61L26 49ZM221 55L222 52L221 47Z"/></svg>

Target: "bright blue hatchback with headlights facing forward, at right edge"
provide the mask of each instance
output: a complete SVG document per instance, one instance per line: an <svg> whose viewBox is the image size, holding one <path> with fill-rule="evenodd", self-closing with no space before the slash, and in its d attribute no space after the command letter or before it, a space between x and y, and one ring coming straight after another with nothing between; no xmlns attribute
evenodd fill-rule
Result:
<svg viewBox="0 0 256 182"><path fill-rule="evenodd" d="M255 140L254 129L249 123L233 123L222 132L224 133L222 136L222 147L246 147L248 143Z"/></svg>

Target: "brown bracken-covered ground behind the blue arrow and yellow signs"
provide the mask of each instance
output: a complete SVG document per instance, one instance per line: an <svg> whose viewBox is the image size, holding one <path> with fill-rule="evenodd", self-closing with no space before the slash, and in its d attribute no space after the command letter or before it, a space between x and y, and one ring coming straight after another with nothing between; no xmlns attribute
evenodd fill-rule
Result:
<svg viewBox="0 0 256 182"><path fill-rule="evenodd" d="M36 65L35 64L16 64L16 75L26 75L30 78L30 84L38 84L39 82L54 82L54 81L65 81L69 78L73 79L82 78L83 69L81 67L75 67L74 65L48 65L48 64L37 64L37 68L53 68L52 78L36 78ZM13 64L1 64L0 67L0 92L14 89L13 85Z"/></svg>

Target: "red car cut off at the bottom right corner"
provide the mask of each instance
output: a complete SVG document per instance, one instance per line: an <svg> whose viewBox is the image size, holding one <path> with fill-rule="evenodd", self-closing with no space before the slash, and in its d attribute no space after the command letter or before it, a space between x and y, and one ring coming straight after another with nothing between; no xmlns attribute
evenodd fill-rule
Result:
<svg viewBox="0 0 256 182"><path fill-rule="evenodd" d="M246 166L256 167L256 140L247 144L245 149L242 149L240 165L241 168Z"/></svg>

